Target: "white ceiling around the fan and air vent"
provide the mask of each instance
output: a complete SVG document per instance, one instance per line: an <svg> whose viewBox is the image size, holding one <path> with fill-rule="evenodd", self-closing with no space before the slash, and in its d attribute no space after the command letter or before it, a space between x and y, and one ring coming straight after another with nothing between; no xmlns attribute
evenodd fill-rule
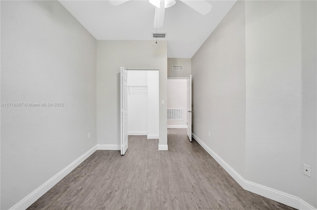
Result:
<svg viewBox="0 0 317 210"><path fill-rule="evenodd" d="M201 15L185 3L165 9L163 27L167 56L191 58L234 5L236 0L208 0L211 12ZM130 0L118 6L108 0L60 0L60 3L97 40L153 40L155 6L148 0Z"/></svg>

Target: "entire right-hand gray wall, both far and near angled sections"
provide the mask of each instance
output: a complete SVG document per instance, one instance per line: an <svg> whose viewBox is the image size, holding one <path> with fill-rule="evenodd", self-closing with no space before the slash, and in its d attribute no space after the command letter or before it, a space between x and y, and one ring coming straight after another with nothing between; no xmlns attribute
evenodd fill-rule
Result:
<svg viewBox="0 0 317 210"><path fill-rule="evenodd" d="M316 4L237 1L192 58L193 132L246 180L314 207Z"/></svg>

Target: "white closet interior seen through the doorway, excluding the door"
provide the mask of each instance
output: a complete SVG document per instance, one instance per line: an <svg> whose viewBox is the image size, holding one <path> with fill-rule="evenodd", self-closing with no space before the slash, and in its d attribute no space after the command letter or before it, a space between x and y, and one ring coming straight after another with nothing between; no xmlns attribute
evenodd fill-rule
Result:
<svg viewBox="0 0 317 210"><path fill-rule="evenodd" d="M159 71L127 71L128 135L159 139Z"/></svg>

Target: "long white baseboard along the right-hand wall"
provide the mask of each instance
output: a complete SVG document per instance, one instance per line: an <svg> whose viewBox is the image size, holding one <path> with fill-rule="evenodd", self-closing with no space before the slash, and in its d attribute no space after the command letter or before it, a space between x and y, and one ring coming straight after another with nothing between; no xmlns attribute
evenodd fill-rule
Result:
<svg viewBox="0 0 317 210"><path fill-rule="evenodd" d="M285 204L299 210L317 210L302 199L284 193L248 180L245 180L237 171L235 171L228 163L226 163L221 157L219 157L210 147L208 147L198 136L192 133L194 139L213 157L229 174L238 182L238 184L245 190L258 195L264 196L271 200Z"/></svg>

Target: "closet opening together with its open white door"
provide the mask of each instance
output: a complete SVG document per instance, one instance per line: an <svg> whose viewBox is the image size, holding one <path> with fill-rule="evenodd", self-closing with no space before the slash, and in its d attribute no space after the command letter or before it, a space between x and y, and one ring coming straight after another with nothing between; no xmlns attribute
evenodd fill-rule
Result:
<svg viewBox="0 0 317 210"><path fill-rule="evenodd" d="M124 155L129 138L159 140L159 70L121 67L120 83L121 155Z"/></svg>

